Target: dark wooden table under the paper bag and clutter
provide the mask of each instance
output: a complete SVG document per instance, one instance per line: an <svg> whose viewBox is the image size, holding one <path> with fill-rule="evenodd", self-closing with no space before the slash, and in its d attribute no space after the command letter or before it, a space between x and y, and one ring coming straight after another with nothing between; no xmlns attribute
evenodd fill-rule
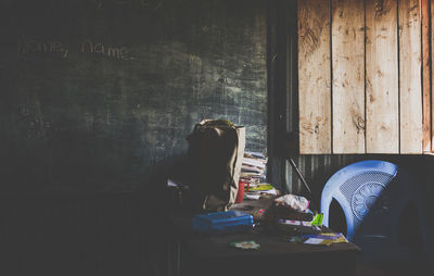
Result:
<svg viewBox="0 0 434 276"><path fill-rule="evenodd" d="M260 208L264 202L251 202ZM245 209L248 202L234 205ZM252 209L251 209L252 211ZM353 243L311 246L292 243L289 235L264 227L218 236L192 231L192 216L171 217L175 240L179 246L180 275L354 275L360 252ZM258 250L230 247L233 241L254 240ZM295 273L295 274L294 274Z"/></svg>

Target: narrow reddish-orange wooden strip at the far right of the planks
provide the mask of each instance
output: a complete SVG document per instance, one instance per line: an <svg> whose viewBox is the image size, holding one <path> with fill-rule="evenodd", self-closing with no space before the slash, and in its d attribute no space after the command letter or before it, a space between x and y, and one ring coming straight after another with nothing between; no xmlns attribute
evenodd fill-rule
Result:
<svg viewBox="0 0 434 276"><path fill-rule="evenodd" d="M422 15L422 149L431 151L431 59L430 59L430 2L421 0Z"/></svg>

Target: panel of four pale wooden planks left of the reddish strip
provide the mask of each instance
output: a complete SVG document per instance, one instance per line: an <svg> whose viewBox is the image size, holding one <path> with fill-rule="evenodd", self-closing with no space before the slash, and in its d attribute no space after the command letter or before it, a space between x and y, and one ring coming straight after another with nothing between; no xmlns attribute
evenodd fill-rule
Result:
<svg viewBox="0 0 434 276"><path fill-rule="evenodd" d="M302 154L422 153L421 22L420 0L298 1Z"/></svg>

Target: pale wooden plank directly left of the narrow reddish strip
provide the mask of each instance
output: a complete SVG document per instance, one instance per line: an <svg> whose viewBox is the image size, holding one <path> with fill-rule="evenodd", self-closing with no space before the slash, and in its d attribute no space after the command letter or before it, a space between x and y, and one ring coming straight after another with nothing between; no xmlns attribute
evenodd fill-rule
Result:
<svg viewBox="0 0 434 276"><path fill-rule="evenodd" d="M399 0L400 153L422 153L421 22L419 0Z"/></svg>

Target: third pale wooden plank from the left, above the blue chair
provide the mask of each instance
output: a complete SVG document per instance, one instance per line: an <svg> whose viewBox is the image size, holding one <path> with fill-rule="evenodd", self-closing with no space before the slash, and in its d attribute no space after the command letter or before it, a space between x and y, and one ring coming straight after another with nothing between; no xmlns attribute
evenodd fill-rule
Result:
<svg viewBox="0 0 434 276"><path fill-rule="evenodd" d="M366 2L367 152L399 152L397 1Z"/></svg>

